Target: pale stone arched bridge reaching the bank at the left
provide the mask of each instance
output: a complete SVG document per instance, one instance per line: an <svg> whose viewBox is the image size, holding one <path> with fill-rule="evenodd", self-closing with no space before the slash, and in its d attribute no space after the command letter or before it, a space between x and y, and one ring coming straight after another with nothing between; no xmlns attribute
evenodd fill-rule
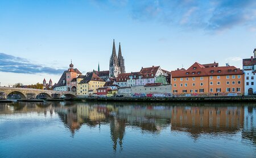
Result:
<svg viewBox="0 0 256 158"><path fill-rule="evenodd" d="M40 97L60 98L63 95L65 95L65 97L67 98L75 98L76 92L31 89L31 88L0 87L0 99L14 99L15 95L19 95L20 99L36 99Z"/></svg>

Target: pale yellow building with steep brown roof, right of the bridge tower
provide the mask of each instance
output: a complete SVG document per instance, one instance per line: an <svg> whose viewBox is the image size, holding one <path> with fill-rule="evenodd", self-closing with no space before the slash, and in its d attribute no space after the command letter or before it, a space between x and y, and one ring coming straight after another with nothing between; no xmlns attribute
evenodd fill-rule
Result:
<svg viewBox="0 0 256 158"><path fill-rule="evenodd" d="M77 95L93 95L97 93L98 88L102 88L105 81L94 72L88 72L85 77L77 82Z"/></svg>

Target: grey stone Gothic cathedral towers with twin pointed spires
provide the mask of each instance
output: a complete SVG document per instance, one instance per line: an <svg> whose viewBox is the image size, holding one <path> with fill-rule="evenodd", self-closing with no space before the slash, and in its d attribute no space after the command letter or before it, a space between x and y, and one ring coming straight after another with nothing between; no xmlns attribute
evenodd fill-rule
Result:
<svg viewBox="0 0 256 158"><path fill-rule="evenodd" d="M115 40L113 41L112 55L109 61L109 77L117 77L119 73L125 73L125 59L123 59L121 52L121 45L119 43L118 56L115 52Z"/></svg>

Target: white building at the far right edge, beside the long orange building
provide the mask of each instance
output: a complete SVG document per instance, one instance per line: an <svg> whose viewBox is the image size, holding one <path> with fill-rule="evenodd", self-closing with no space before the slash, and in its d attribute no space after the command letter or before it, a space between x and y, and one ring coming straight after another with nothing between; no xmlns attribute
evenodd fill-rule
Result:
<svg viewBox="0 0 256 158"><path fill-rule="evenodd" d="M255 72L256 72L256 49L254 56L250 59L243 59L243 73L245 73L245 95L256 94Z"/></svg>

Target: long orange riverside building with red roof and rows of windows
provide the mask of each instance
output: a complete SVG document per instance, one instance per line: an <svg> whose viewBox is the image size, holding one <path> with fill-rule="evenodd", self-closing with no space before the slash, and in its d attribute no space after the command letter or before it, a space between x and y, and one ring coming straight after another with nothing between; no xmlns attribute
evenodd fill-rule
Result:
<svg viewBox="0 0 256 158"><path fill-rule="evenodd" d="M172 74L174 95L242 95L244 76L235 66L195 63Z"/></svg>

